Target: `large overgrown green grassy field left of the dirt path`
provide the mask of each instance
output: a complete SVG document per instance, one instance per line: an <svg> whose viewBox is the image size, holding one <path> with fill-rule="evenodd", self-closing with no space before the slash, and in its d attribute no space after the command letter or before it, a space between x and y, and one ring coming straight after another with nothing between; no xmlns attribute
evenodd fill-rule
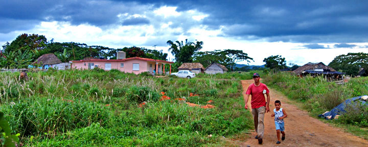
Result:
<svg viewBox="0 0 368 147"><path fill-rule="evenodd" d="M28 73L28 81L18 75L0 73L0 111L26 146L221 146L223 136L252 128L240 80L231 76L155 78L98 68Z"/></svg>

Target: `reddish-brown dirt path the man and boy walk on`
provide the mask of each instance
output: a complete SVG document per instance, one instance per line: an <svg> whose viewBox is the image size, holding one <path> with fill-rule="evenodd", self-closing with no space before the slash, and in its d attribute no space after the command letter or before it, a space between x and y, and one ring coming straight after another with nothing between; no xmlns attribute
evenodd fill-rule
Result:
<svg viewBox="0 0 368 147"><path fill-rule="evenodd" d="M253 80L242 80L243 90L246 91L249 84ZM270 110L273 111L275 100L280 100L282 108L288 114L285 119L286 139L281 144L276 144L277 136L274 127L273 117L271 113L265 114L265 135L263 144L258 144L258 140L254 139L257 135L255 131L239 146L368 146L368 141L352 134L341 131L338 128L331 127L308 115L308 112L298 109L296 106L289 104L288 99L282 93L270 90ZM248 108L250 108L250 100Z"/></svg>

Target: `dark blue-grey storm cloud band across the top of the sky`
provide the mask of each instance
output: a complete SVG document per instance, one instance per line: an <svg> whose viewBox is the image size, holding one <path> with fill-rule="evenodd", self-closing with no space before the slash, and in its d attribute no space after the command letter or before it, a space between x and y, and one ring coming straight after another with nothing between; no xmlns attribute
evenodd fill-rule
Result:
<svg viewBox="0 0 368 147"><path fill-rule="evenodd" d="M1 23L0 33L21 30L21 23L68 21L78 25L152 24L159 28L160 18L152 11L160 6L177 7L176 11L196 10L208 14L200 24L218 30L220 36L247 40L302 43L368 42L368 1L5 1L0 5L0 21L13 19L20 24ZM119 14L146 14L154 18L119 18ZM182 33L196 25L190 17L172 18L170 28ZM28 26L32 27L32 26Z"/></svg>

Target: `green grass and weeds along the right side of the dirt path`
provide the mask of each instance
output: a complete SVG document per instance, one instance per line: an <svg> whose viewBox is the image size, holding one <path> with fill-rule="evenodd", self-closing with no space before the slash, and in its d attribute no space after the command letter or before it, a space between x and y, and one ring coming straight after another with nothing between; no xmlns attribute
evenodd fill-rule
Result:
<svg viewBox="0 0 368 147"><path fill-rule="evenodd" d="M330 111L335 106L357 96L368 94L368 77L350 79L347 83L336 84L323 77L297 77L287 72L270 74L263 82L288 98L302 103L302 107L314 117L318 114ZM368 107L356 103L348 106L351 111L341 115L339 119L326 121L343 126L350 132L368 139Z"/></svg>

